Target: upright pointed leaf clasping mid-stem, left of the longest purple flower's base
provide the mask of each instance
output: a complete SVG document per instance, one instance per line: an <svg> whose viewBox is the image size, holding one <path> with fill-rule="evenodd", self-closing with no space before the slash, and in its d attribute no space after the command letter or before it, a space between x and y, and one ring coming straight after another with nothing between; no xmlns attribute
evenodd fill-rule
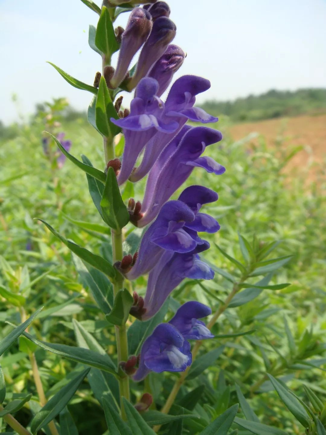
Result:
<svg viewBox="0 0 326 435"><path fill-rule="evenodd" d="M112 167L108 169L100 205L103 219L109 227L117 231L128 224L129 213L122 201L118 182Z"/></svg>

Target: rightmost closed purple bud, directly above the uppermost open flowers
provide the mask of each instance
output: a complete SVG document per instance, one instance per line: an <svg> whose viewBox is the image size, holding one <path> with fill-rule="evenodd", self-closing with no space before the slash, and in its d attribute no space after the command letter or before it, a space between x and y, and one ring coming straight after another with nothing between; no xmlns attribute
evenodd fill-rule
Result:
<svg viewBox="0 0 326 435"><path fill-rule="evenodd" d="M158 81L158 97L161 97L163 92L168 88L173 74L181 67L184 58L184 51L177 45L171 44L151 68L148 77L152 77Z"/></svg>

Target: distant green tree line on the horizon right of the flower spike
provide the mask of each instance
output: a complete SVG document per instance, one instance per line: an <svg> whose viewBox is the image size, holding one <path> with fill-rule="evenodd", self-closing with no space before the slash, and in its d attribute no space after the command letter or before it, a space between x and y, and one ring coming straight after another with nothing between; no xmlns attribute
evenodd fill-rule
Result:
<svg viewBox="0 0 326 435"><path fill-rule="evenodd" d="M249 95L234 101L206 101L201 107L215 116L227 115L235 122L319 114L326 112L326 89L308 88L294 92L272 89L266 94Z"/></svg>

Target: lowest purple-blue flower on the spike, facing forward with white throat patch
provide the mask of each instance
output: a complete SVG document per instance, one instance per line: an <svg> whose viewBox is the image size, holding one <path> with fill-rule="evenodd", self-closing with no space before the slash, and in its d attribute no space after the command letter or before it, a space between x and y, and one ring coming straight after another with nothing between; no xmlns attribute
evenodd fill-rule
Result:
<svg viewBox="0 0 326 435"><path fill-rule="evenodd" d="M161 323L144 341L133 379L141 381L150 371L184 371L191 361L189 342L174 326Z"/></svg>

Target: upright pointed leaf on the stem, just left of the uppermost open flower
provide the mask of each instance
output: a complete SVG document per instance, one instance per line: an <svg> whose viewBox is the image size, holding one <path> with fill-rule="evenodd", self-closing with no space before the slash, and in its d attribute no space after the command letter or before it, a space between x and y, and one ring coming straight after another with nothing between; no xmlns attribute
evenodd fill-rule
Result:
<svg viewBox="0 0 326 435"><path fill-rule="evenodd" d="M105 78L102 76L99 81L99 92L95 104L95 124L99 132L109 138L112 138L121 131L119 127L112 124L110 121L112 117L119 119L112 103Z"/></svg>

